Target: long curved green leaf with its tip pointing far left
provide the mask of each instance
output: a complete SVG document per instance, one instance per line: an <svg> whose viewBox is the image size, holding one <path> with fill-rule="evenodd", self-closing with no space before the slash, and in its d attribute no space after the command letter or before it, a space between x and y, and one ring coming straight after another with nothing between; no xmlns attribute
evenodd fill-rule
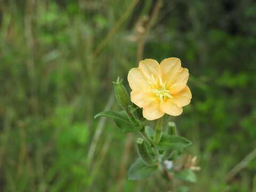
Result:
<svg viewBox="0 0 256 192"><path fill-rule="evenodd" d="M141 126L134 126L131 124L124 110L123 111L103 111L95 115L94 118L102 117L102 116L113 118L116 125L123 132L135 132L142 129Z"/></svg>

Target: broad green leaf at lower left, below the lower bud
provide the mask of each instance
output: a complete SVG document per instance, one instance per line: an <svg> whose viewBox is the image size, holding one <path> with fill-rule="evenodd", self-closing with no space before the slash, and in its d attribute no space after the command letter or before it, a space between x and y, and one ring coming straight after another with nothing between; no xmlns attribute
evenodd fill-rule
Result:
<svg viewBox="0 0 256 192"><path fill-rule="evenodd" d="M152 175L158 166L147 166L145 165L140 158L137 159L135 163L133 163L128 171L128 179L129 180L138 180L145 179Z"/></svg>

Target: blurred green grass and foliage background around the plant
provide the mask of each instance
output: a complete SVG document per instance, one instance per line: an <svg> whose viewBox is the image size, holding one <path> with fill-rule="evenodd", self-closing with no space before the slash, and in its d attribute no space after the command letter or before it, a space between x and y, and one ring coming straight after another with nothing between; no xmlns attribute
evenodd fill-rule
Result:
<svg viewBox="0 0 256 192"><path fill-rule="evenodd" d="M93 119L119 110L118 76L167 57L190 71L172 118L202 167L190 191L256 191L255 22L252 0L1 0L0 191L167 191L128 181L138 135Z"/></svg>

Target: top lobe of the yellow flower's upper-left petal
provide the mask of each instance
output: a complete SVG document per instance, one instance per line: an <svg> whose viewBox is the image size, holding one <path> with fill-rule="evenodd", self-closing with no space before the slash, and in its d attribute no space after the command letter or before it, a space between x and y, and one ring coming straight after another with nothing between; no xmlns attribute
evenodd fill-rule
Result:
<svg viewBox="0 0 256 192"><path fill-rule="evenodd" d="M158 77L160 74L159 63L154 59L145 59L140 61L139 69L142 74L149 80L151 80L151 75Z"/></svg>

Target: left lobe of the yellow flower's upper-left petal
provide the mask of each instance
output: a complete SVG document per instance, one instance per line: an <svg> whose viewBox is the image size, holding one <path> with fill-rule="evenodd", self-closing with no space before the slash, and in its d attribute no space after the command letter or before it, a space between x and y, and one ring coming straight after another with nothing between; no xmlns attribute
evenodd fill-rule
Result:
<svg viewBox="0 0 256 192"><path fill-rule="evenodd" d="M145 76L143 76L139 68L132 68L128 73L127 79L133 91L134 90L142 91L142 90L150 89L150 86Z"/></svg>

